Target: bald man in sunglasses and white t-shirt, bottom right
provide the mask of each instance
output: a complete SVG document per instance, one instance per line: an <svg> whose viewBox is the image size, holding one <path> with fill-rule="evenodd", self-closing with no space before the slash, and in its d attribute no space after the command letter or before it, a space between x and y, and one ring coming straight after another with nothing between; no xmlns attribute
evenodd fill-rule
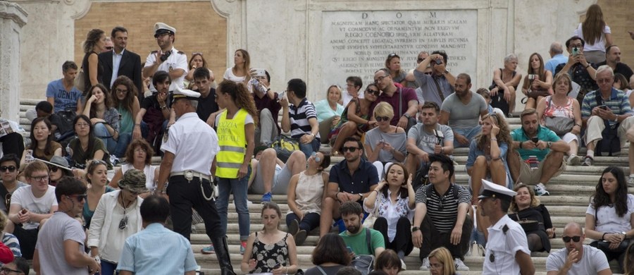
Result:
<svg viewBox="0 0 634 275"><path fill-rule="evenodd" d="M547 275L612 274L610 265L603 251L596 247L583 244L585 234L579 224L566 224L562 239L566 247L551 252L546 259Z"/></svg>

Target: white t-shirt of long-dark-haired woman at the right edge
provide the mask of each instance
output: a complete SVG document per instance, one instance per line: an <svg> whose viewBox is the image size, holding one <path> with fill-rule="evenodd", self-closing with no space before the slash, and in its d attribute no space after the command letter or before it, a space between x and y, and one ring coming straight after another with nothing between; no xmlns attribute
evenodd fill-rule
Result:
<svg viewBox="0 0 634 275"><path fill-rule="evenodd" d="M595 224L595 230L599 232L623 232L632 229L630 224L630 217L634 213L634 195L628 194L628 212L619 216L616 214L614 207L602 206L599 207L595 214L595 209L592 207L592 202L588 204L588 209L585 210L585 214L590 214L597 218L597 224Z"/></svg>

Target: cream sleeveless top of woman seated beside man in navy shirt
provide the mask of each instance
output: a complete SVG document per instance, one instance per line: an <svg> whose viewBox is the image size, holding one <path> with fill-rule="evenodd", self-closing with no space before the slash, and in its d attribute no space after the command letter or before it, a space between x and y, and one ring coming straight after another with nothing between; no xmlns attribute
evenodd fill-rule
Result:
<svg viewBox="0 0 634 275"><path fill-rule="evenodd" d="M324 186L321 173L307 176L305 171L299 173L297 187L295 188L295 204L304 214L321 214L321 199L323 197ZM288 213L292 213L291 210Z"/></svg>

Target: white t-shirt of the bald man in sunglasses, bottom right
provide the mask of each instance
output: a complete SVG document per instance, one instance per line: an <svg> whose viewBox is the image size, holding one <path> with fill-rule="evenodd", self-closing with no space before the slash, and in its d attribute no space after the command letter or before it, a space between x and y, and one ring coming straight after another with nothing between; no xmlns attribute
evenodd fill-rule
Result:
<svg viewBox="0 0 634 275"><path fill-rule="evenodd" d="M559 271L566 264L568 250L566 247L551 252L546 259L546 271ZM583 255L579 262L572 265L568 274L585 275L597 274L599 271L609 269L610 265L603 251L590 245L583 245Z"/></svg>

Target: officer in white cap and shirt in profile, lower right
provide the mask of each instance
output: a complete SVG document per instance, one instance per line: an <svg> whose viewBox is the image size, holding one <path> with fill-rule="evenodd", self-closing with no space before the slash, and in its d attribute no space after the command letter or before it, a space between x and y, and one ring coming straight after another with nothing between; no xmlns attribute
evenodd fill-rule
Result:
<svg viewBox="0 0 634 275"><path fill-rule="evenodd" d="M490 181L482 183L484 190L478 197L478 207L492 224L487 228L489 239L482 274L535 274L526 233L506 215L516 193Z"/></svg>

